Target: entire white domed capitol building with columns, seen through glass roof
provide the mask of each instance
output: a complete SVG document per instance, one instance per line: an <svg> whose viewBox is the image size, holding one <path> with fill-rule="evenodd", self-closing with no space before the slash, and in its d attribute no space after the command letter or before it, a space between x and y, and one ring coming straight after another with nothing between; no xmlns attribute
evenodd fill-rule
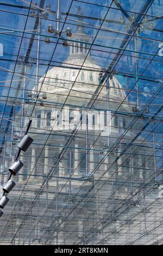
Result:
<svg viewBox="0 0 163 256"><path fill-rule="evenodd" d="M85 241L102 245L115 243L115 236L118 243L118 234L127 230L128 224L132 227L129 219L133 218L135 225L134 217L143 215L137 200L143 195L144 181L153 180L154 163L152 158L148 160L153 149L149 147L147 156L144 153L142 157L148 145L137 146L143 138L136 130L146 120L140 118L128 130L137 114L135 104L129 102L116 71L108 79L106 70L88 53L91 42L92 37L79 26L68 42L70 56L39 81L40 101L30 129L34 143L21 153L24 166L14 177L18 195L30 177L19 206L20 216L11 220L14 229L21 224L23 207L26 211L33 204L24 227L30 229L31 222L36 224L24 244L50 240L52 245ZM29 121L34 92L28 93L24 126ZM15 122L20 123L20 119ZM15 127L15 136L18 129ZM40 143L45 144L43 149ZM126 205L128 211L118 218ZM102 240L102 228L108 233L107 240ZM72 235L67 236L67 231ZM21 243L23 232L20 226L15 244Z"/></svg>

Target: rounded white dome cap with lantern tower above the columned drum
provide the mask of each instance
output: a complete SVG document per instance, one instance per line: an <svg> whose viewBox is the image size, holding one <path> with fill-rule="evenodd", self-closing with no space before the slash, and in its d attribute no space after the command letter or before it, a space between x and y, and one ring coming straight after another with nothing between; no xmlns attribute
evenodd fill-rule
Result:
<svg viewBox="0 0 163 256"><path fill-rule="evenodd" d="M96 93L97 87L99 85L103 87L105 84L105 82L101 82L104 70L88 53L91 43L92 37L87 35L82 27L78 27L77 33L72 35L67 46L70 48L70 56L62 63L61 67L53 67L48 70L39 81L38 91L47 93L47 99L55 102L59 96L66 98L70 90L71 96L77 97L77 99L78 97L91 99L92 95ZM99 97L106 97L105 88L105 86L101 88ZM115 76L109 78L109 98L110 101L116 100L117 102L126 99L126 93Z"/></svg>

